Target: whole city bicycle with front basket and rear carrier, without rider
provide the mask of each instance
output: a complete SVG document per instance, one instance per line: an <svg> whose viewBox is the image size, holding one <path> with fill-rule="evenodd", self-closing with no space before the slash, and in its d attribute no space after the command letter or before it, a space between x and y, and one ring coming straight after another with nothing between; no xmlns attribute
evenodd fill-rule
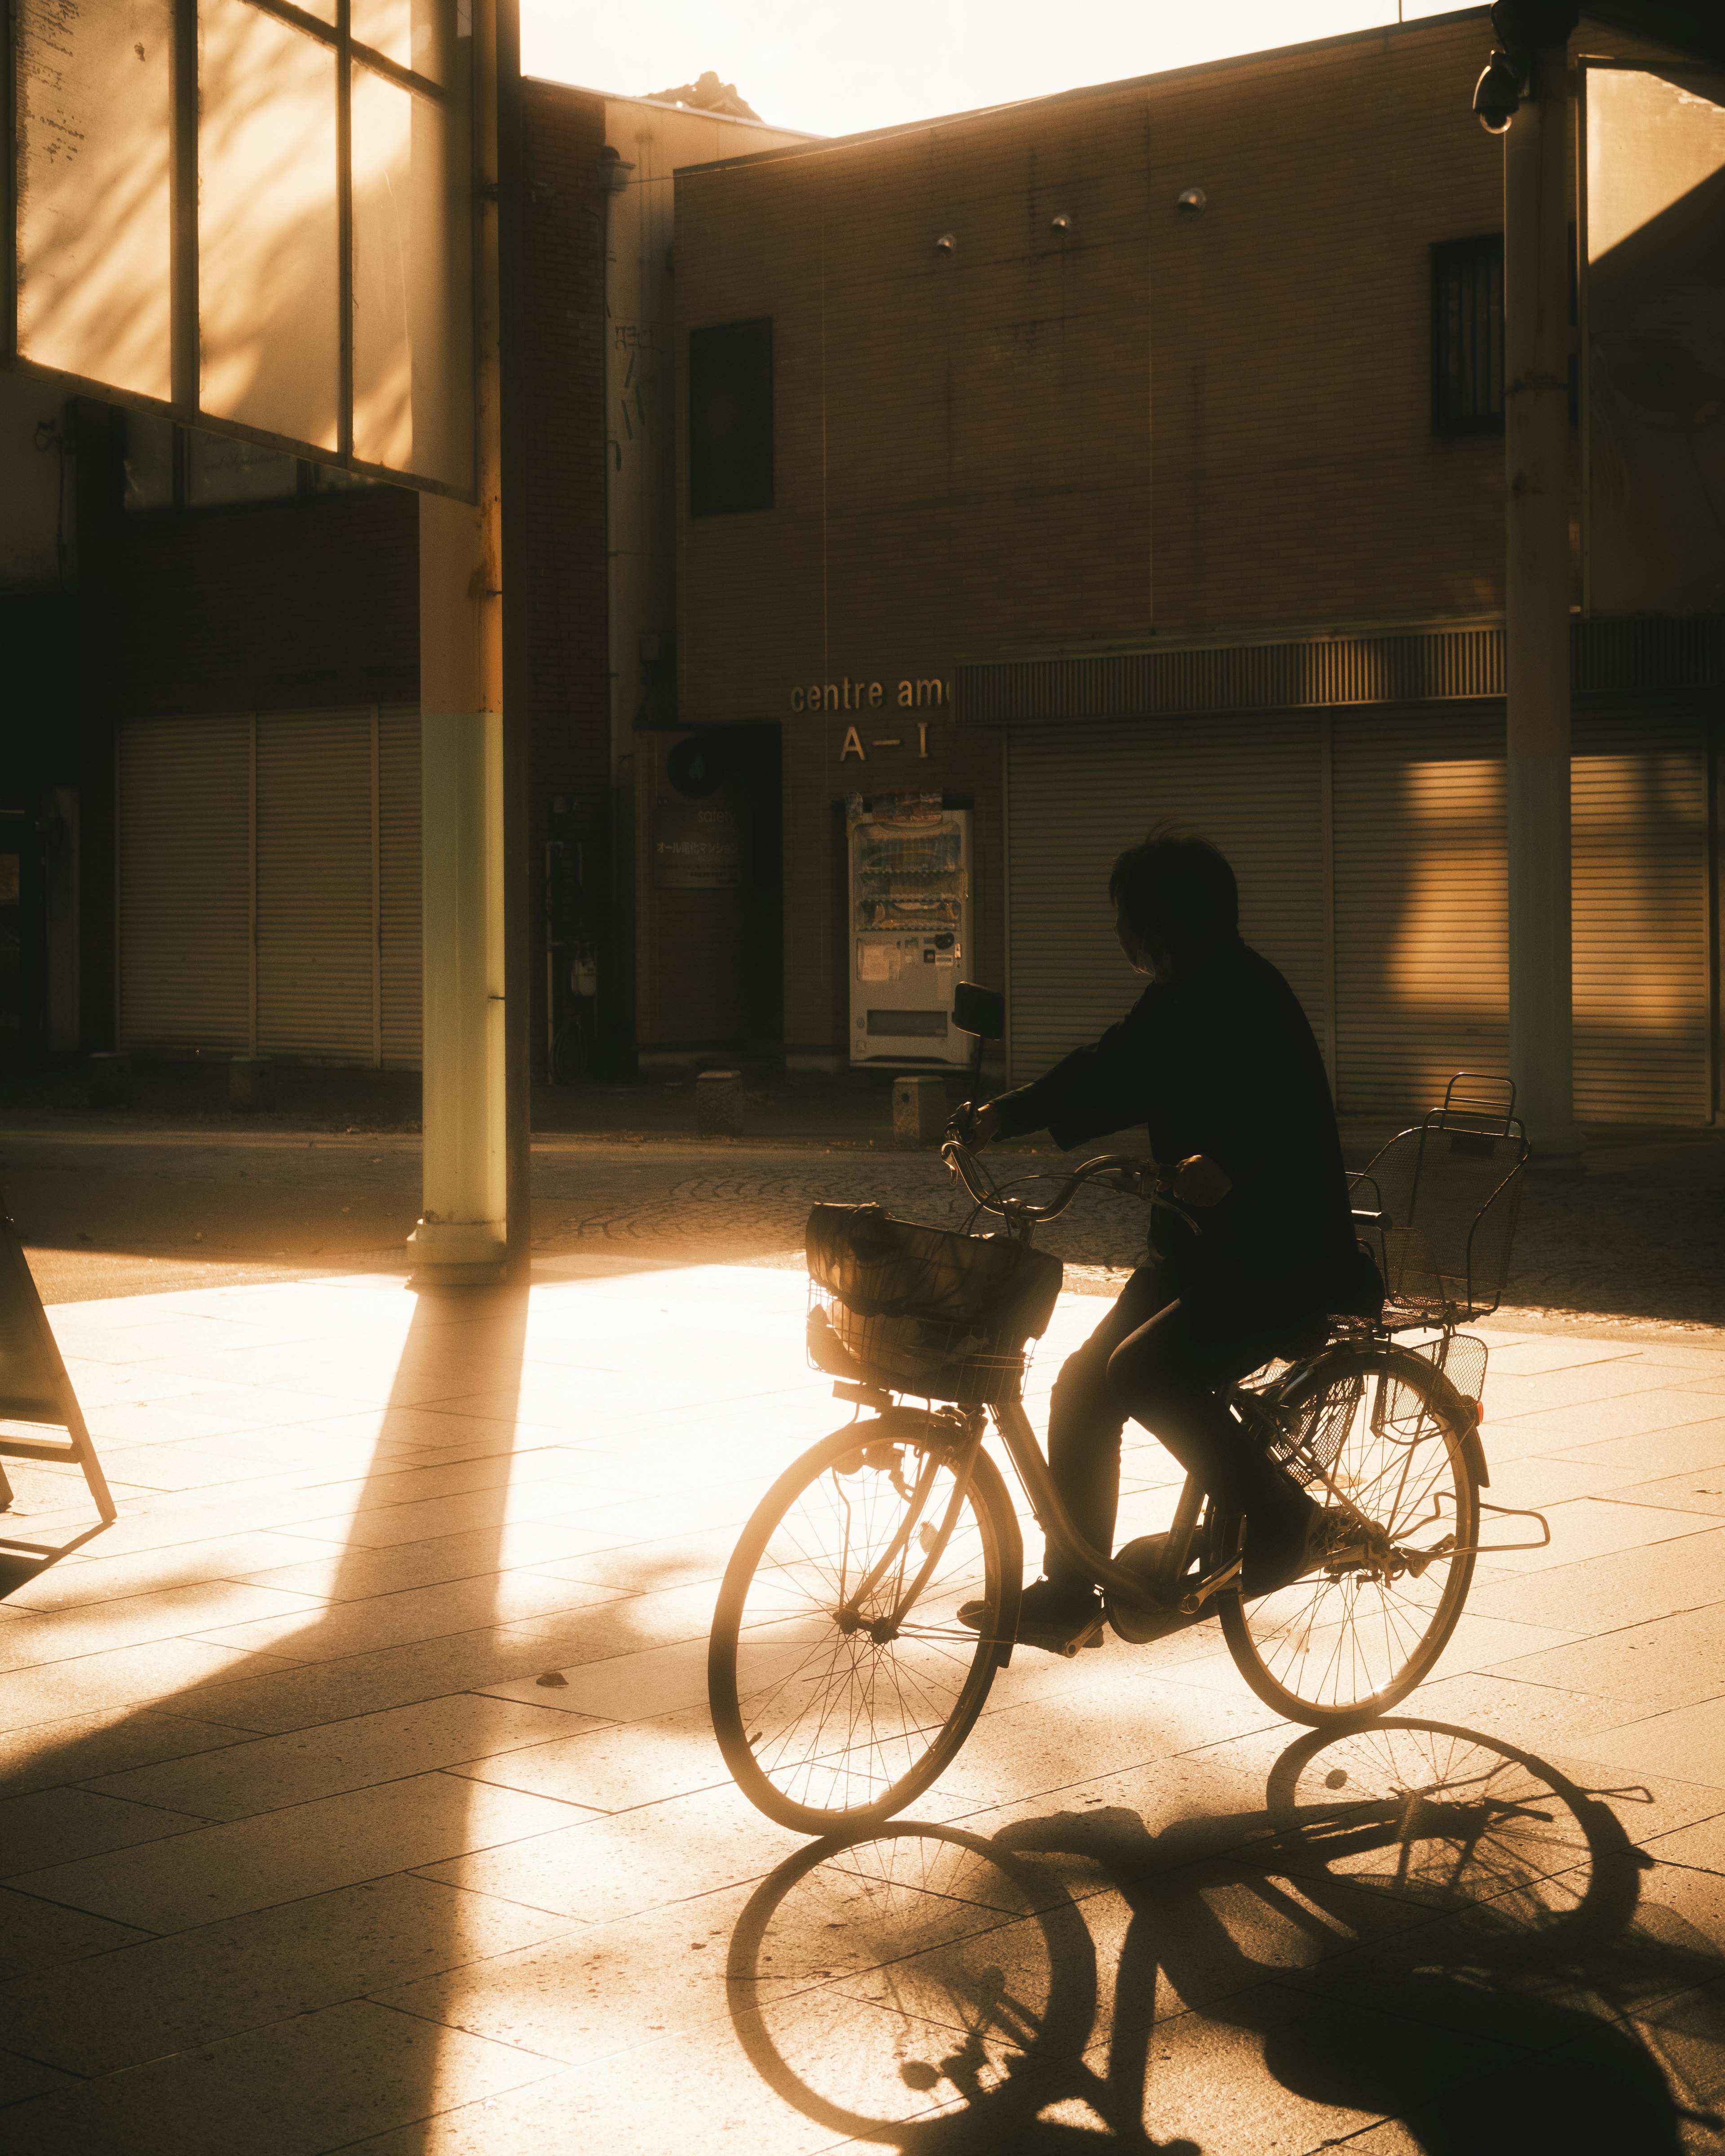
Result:
<svg viewBox="0 0 1725 2156"><path fill-rule="evenodd" d="M960 1272L992 1274L1011 1272L1003 1253L1013 1246L1029 1259L1037 1227L1091 1181L1201 1231L1158 1190L1154 1160L1087 1160L1037 1205L1000 1190L960 1141L942 1158L977 1205L972 1220L994 1214L1005 1235L847 1212L873 1216L882 1248L886 1229L899 1229ZM724 1572L707 1699L737 1787L778 1824L828 1835L893 1818L957 1755L1018 1643L1022 1535L983 1449L990 1427L1048 1546L1100 1585L1119 1639L1149 1643L1214 1615L1253 1692L1315 1729L1346 1729L1406 1699L1460 1621L1481 1511L1516 1511L1479 1494L1490 1481L1486 1345L1458 1326L1496 1309L1524 1160L1509 1082L1460 1074L1443 1108L1354 1179L1356 1194L1378 1199L1354 1220L1378 1238L1382 1315L1289 1337L1276 1360L1218 1388L1255 1442L1337 1516L1315 1572L1257 1600L1240 1589L1242 1518L1220 1514L1190 1477L1167 1535L1110 1557L1074 1529L1022 1404L1026 1339L1046 1326L1052 1294L1041 1322L1033 1311L1003 1332L962 1296L953 1315L955 1296L927 1285L934 1259L897 1298L817 1289L813 1360L837 1373L832 1391L854 1419L778 1477ZM813 1218L824 1212L841 1210ZM1059 1287L1059 1261L1035 1259ZM1397 1337L1412 1330L1432 1337ZM1542 1516L1516 1516L1540 1520L1550 1539Z"/></svg>

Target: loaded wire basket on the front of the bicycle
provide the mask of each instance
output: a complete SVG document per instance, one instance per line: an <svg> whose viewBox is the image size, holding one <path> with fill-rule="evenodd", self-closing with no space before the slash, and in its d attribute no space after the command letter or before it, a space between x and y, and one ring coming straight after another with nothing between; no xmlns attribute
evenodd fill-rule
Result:
<svg viewBox="0 0 1725 2156"><path fill-rule="evenodd" d="M1026 1341L1061 1291L1061 1261L1007 1235L815 1205L806 1233L809 1358L923 1399L1018 1399Z"/></svg>

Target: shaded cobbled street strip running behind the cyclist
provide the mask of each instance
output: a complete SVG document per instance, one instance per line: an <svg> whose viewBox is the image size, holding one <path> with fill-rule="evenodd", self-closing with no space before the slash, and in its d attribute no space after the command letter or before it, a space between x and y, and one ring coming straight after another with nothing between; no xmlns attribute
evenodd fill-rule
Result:
<svg viewBox="0 0 1725 2156"><path fill-rule="evenodd" d="M1356 1136L1352 1164L1369 1151ZM1013 1179L1072 1164L1031 1147L988 1160ZM418 1214L412 1134L34 1130L9 1134L0 1175L50 1300L399 1266ZM970 1212L932 1151L865 1143L554 1136L535 1143L533 1192L533 1242L548 1257L796 1266L817 1201L878 1199L949 1227ZM1576 1181L1527 1177L1505 1313L1723 1326L1723 1227L1725 1136L1600 1143ZM1070 1285L1104 1289L1134 1263L1143 1235L1138 1201L1085 1190L1039 1240L1067 1261Z"/></svg>

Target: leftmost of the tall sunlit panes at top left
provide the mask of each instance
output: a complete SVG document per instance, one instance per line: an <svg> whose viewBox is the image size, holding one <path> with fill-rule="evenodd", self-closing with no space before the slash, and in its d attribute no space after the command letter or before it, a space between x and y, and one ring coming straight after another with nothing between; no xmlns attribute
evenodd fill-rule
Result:
<svg viewBox="0 0 1725 2156"><path fill-rule="evenodd" d="M19 351L166 401L170 0L15 24Z"/></svg>

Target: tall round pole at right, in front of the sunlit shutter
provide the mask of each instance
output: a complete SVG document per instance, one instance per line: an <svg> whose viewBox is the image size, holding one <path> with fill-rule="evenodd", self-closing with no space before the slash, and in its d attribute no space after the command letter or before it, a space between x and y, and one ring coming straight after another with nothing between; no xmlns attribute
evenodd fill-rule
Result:
<svg viewBox="0 0 1725 2156"><path fill-rule="evenodd" d="M1533 1158L1572 1164L1568 43L1503 142L1509 1076Z"/></svg>

